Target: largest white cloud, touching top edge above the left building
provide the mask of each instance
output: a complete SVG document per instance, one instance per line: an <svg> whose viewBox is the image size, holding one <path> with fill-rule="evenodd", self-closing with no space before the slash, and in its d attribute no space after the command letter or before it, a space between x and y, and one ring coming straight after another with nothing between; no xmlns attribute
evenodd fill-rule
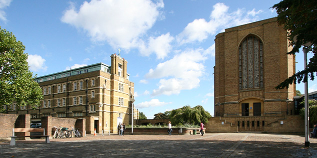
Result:
<svg viewBox="0 0 317 158"><path fill-rule="evenodd" d="M78 10L70 5L61 21L83 29L93 41L128 49L152 27L163 7L162 0L91 0Z"/></svg>

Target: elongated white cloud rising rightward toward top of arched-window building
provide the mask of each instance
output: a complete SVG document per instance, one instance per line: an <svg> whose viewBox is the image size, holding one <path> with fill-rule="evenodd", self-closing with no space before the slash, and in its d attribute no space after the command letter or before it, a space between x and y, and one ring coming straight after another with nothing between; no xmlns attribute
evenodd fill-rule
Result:
<svg viewBox="0 0 317 158"><path fill-rule="evenodd" d="M194 41L202 42L208 38L208 36L214 35L223 28L256 21L257 16L255 15L262 12L262 10L256 11L255 9L246 12L244 8L238 8L236 11L228 12L228 8L229 7L224 3L218 2L214 4L209 16L209 21L202 18L194 19L176 36L176 41L179 44ZM249 16L252 16L252 18Z"/></svg>

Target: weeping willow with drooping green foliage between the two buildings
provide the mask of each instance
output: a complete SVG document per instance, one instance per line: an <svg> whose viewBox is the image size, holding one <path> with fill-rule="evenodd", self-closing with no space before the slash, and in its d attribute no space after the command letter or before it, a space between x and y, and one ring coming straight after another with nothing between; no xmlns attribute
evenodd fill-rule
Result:
<svg viewBox="0 0 317 158"><path fill-rule="evenodd" d="M207 123L211 115L203 109L202 106L197 105L190 108L189 105L184 106L179 109L174 109L169 113L168 118L172 125L198 125L200 121Z"/></svg>

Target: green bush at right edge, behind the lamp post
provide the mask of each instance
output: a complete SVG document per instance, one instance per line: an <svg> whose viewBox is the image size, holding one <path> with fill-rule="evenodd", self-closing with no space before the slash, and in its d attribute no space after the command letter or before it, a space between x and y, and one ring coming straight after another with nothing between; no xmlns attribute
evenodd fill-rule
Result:
<svg viewBox="0 0 317 158"><path fill-rule="evenodd" d="M304 100L299 104L304 104ZM309 127L312 127L313 124L317 124L317 100L311 99L308 100L309 105ZM299 111L299 115L304 118L305 117L305 108L301 108Z"/></svg>

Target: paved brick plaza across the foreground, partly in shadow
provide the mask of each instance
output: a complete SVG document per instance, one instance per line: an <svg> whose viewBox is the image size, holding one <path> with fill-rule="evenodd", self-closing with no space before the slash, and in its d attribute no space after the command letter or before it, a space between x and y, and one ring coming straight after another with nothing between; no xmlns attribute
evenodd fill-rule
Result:
<svg viewBox="0 0 317 158"><path fill-rule="evenodd" d="M317 139L260 133L200 135L97 135L0 142L1 158L317 158Z"/></svg>

